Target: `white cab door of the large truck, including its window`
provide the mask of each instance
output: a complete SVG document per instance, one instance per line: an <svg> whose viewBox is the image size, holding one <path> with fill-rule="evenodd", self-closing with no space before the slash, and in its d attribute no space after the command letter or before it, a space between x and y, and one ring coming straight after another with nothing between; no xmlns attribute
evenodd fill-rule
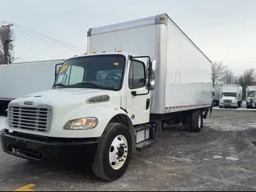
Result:
<svg viewBox="0 0 256 192"><path fill-rule="evenodd" d="M126 110L134 125L149 122L150 91L147 89L147 59L130 61L128 87L126 89Z"/></svg>

